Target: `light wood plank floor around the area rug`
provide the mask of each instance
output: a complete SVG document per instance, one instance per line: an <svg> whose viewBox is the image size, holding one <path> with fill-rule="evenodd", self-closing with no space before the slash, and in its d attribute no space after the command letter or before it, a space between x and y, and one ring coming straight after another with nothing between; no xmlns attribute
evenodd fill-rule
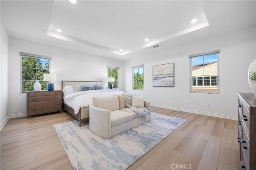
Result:
<svg viewBox="0 0 256 170"><path fill-rule="evenodd" d="M128 170L240 169L237 121L158 107L151 111L187 121ZM52 126L72 120L65 112L9 119L0 133L0 169L72 170Z"/></svg>

